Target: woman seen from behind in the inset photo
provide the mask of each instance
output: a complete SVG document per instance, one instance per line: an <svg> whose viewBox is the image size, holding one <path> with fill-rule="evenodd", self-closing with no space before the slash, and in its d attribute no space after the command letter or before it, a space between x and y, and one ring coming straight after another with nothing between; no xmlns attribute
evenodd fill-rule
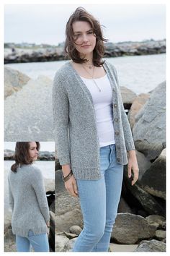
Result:
<svg viewBox="0 0 170 256"><path fill-rule="evenodd" d="M16 142L14 160L8 176L9 203L12 207L12 232L17 252L49 252L50 215L43 177L37 160L39 142Z"/></svg>

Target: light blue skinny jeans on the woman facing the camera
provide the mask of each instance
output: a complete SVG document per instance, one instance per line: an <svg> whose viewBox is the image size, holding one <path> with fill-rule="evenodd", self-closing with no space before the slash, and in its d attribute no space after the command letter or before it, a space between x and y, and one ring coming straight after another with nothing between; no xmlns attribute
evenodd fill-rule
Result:
<svg viewBox="0 0 170 256"><path fill-rule="evenodd" d="M117 163L115 144L100 148L102 178L77 179L84 229L72 252L107 252L122 189L123 166Z"/></svg>

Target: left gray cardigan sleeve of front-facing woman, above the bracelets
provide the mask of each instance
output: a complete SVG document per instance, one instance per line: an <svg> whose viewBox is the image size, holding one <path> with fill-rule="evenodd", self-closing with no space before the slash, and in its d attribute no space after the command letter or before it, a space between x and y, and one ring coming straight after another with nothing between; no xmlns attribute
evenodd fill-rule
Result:
<svg viewBox="0 0 170 256"><path fill-rule="evenodd" d="M65 81L66 82L66 81ZM53 130L58 160L62 165L71 163L68 141L68 95L64 90L64 77L58 72L53 80Z"/></svg>

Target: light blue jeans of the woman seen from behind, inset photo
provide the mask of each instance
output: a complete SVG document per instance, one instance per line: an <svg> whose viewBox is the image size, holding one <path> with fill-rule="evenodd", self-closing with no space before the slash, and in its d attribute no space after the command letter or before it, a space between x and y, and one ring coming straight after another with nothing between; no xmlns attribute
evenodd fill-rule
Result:
<svg viewBox="0 0 170 256"><path fill-rule="evenodd" d="M17 252L30 252L31 246L35 252L49 252L48 235L35 235L31 230L28 237L16 236Z"/></svg>

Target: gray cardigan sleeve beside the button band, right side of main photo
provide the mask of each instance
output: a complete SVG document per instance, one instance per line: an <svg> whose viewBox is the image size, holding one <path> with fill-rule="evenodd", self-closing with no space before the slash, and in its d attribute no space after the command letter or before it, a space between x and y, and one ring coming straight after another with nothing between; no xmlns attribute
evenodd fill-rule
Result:
<svg viewBox="0 0 170 256"><path fill-rule="evenodd" d="M114 74L115 74L115 79L116 79L116 82L117 82L117 85L118 85L117 88L119 90L119 96L120 96L122 127L123 127L123 132L124 132L124 137L125 137L126 150L127 151L135 150L135 145L134 145L133 135L132 135L131 128L130 128L130 123L129 123L128 116L125 113L125 108L124 108L123 103L122 103L122 95L121 95L121 91L120 91L120 85L119 85L119 80L118 80L118 76L117 76L117 70L115 69L115 67L113 67L113 71L114 71Z"/></svg>

